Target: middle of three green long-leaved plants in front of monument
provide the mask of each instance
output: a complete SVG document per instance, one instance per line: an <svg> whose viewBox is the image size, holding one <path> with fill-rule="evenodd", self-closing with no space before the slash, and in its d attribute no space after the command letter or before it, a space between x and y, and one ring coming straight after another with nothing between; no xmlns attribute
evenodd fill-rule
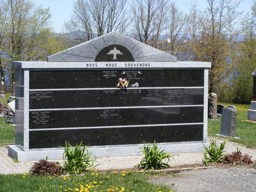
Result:
<svg viewBox="0 0 256 192"><path fill-rule="evenodd" d="M139 164L135 165L137 167L145 167L145 170L148 168L152 169L163 169L165 167L170 167L168 162L170 161L170 157L168 152L164 152L164 150L160 151L156 140L154 141L153 146L148 142L144 142L144 146L140 147L142 153L145 155L142 157ZM173 157L172 157L173 158ZM167 162L163 162L163 160L168 160Z"/></svg>

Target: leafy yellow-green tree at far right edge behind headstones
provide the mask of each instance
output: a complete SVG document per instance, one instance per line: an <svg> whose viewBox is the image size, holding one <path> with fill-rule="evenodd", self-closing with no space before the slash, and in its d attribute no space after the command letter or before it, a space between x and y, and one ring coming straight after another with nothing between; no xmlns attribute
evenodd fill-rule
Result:
<svg viewBox="0 0 256 192"><path fill-rule="evenodd" d="M252 100L253 77L256 69L256 1L251 12L243 20L243 36L238 42L237 65L226 92L226 100L235 103L249 103Z"/></svg>

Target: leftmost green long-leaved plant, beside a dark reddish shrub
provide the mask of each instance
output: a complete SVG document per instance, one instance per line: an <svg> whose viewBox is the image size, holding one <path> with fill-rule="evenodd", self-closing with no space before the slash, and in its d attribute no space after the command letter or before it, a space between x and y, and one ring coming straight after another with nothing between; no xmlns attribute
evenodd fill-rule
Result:
<svg viewBox="0 0 256 192"><path fill-rule="evenodd" d="M62 169L69 173L82 173L87 168L94 170L94 163L96 157L92 152L89 152L88 146L83 145L82 142L72 146L68 141L65 141L66 147L62 147L63 153L63 165L59 165ZM61 163L62 163L61 162Z"/></svg>

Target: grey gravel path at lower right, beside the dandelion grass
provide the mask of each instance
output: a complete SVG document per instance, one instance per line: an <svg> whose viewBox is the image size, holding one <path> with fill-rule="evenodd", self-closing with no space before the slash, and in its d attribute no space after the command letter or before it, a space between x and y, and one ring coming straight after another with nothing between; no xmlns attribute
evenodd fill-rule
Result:
<svg viewBox="0 0 256 192"><path fill-rule="evenodd" d="M186 170L178 177L155 177L153 183L172 185L177 192L256 191L256 168L231 167Z"/></svg>

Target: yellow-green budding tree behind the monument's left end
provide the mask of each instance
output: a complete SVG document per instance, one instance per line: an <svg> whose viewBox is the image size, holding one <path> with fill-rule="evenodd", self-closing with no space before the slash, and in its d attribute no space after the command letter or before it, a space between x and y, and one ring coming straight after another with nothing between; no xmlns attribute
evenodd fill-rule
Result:
<svg viewBox="0 0 256 192"><path fill-rule="evenodd" d="M11 61L46 60L53 53L47 49L49 40L53 38L50 17L49 9L36 7L31 1L1 0L0 65L8 70L11 82L15 80Z"/></svg>

